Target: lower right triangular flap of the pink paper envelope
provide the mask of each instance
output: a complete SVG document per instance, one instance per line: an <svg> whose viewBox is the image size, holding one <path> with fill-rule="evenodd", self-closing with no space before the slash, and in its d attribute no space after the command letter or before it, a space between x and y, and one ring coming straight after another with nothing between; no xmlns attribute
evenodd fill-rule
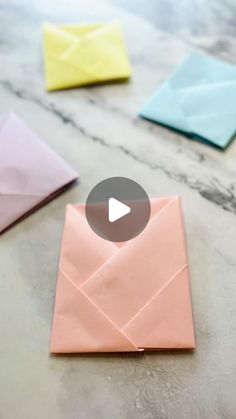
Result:
<svg viewBox="0 0 236 419"><path fill-rule="evenodd" d="M182 269L122 329L138 347L195 347L188 269Z"/></svg>

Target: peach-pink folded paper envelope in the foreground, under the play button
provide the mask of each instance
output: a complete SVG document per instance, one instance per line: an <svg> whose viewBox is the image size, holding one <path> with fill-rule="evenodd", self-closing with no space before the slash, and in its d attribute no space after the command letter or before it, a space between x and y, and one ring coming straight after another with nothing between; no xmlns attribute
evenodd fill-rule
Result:
<svg viewBox="0 0 236 419"><path fill-rule="evenodd" d="M115 244L66 211L51 353L193 349L184 226L178 197L153 199L136 238Z"/></svg>

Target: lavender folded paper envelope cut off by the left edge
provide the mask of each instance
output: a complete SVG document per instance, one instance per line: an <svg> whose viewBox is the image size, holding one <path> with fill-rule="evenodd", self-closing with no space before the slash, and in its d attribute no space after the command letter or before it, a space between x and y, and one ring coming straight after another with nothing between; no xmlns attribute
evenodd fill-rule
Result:
<svg viewBox="0 0 236 419"><path fill-rule="evenodd" d="M0 233L77 177L20 118L0 118Z"/></svg>

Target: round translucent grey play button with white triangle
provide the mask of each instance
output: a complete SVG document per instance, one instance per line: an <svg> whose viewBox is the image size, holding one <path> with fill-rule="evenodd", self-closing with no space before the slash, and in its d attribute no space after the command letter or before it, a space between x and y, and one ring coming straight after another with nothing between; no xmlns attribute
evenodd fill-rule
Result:
<svg viewBox="0 0 236 419"><path fill-rule="evenodd" d="M85 213L92 230L105 240L124 242L146 227L151 205L145 190L125 177L111 177L90 192Z"/></svg>

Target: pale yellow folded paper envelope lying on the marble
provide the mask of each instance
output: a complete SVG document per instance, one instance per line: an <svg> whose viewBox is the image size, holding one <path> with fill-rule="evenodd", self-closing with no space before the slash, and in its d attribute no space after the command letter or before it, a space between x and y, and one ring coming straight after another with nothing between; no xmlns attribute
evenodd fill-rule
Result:
<svg viewBox="0 0 236 419"><path fill-rule="evenodd" d="M131 75L121 28L103 24L45 24L45 78L48 90L64 89Z"/></svg>

